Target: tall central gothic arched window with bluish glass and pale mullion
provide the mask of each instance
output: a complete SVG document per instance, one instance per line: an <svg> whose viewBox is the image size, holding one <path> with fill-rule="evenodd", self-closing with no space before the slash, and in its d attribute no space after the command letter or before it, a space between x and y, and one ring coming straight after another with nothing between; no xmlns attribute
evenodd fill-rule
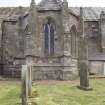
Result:
<svg viewBox="0 0 105 105"><path fill-rule="evenodd" d="M54 55L55 24L51 18L44 24L45 55Z"/></svg>

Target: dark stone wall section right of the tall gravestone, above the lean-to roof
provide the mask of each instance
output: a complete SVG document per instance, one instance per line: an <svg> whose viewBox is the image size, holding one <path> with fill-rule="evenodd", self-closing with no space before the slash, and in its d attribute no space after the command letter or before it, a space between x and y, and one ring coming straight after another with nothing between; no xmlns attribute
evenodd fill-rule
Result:
<svg viewBox="0 0 105 105"><path fill-rule="evenodd" d="M102 47L99 22L85 22L84 32L85 37L88 38L89 55L100 53Z"/></svg>

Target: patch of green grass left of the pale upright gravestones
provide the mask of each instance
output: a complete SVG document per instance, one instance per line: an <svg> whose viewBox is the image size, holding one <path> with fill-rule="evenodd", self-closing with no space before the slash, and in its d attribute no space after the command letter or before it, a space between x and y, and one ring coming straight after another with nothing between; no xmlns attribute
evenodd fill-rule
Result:
<svg viewBox="0 0 105 105"><path fill-rule="evenodd" d="M19 83L0 82L0 105L17 105L20 101Z"/></svg>

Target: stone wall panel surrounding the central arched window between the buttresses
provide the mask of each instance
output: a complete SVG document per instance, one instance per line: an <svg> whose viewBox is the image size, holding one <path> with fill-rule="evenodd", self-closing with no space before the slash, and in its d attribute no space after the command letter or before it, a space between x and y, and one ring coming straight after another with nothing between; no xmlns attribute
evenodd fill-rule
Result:
<svg viewBox="0 0 105 105"><path fill-rule="evenodd" d="M44 24L46 23L47 18L51 18L56 25L55 38L54 38L54 49L55 55L61 56L63 54L63 35L61 31L61 14L59 11L47 11L47 12L38 12L38 21L39 21L39 37L40 37L40 49L41 56L44 55Z"/></svg>

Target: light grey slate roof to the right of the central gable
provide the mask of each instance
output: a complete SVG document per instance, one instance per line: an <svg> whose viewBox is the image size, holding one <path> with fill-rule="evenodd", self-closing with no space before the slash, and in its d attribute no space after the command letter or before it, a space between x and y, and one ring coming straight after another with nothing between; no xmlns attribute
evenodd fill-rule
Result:
<svg viewBox="0 0 105 105"><path fill-rule="evenodd" d="M80 15L79 7L70 7L70 12L75 15ZM100 19L101 11L105 11L105 7L84 7L84 21L98 21Z"/></svg>

